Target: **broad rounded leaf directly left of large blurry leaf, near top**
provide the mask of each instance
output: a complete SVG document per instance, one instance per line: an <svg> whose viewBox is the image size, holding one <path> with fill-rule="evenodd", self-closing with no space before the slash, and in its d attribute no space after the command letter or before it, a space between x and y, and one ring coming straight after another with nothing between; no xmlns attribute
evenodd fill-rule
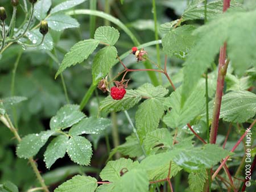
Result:
<svg viewBox="0 0 256 192"><path fill-rule="evenodd" d="M195 45L193 30L195 30L194 26L184 25L168 32L162 39L164 53L173 56L184 52L183 55L187 55L189 49Z"/></svg>

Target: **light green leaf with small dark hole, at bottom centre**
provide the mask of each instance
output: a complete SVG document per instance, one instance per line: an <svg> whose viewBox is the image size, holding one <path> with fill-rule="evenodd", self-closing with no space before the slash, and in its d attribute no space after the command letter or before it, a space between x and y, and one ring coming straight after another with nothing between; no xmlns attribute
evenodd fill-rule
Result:
<svg viewBox="0 0 256 192"><path fill-rule="evenodd" d="M119 160L109 161L105 168L101 170L100 177L102 181L115 182L121 178L121 172L128 172L138 165L138 162L133 162L130 158L119 158Z"/></svg>

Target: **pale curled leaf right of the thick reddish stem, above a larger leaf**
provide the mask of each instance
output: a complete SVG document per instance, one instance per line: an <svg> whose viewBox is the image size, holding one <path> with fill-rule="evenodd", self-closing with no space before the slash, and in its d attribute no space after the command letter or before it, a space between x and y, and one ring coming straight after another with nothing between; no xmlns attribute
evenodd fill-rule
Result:
<svg viewBox="0 0 256 192"><path fill-rule="evenodd" d="M225 77L226 91L243 91L249 89L252 85L250 77L238 78L233 74L227 73Z"/></svg>

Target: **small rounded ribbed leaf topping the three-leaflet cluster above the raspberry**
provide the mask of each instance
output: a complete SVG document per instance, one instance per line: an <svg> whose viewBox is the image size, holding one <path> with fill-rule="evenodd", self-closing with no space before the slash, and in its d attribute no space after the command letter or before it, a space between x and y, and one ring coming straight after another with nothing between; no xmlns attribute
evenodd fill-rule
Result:
<svg viewBox="0 0 256 192"><path fill-rule="evenodd" d="M119 32L114 27L98 27L94 34L94 39L103 43L114 45L119 38Z"/></svg>

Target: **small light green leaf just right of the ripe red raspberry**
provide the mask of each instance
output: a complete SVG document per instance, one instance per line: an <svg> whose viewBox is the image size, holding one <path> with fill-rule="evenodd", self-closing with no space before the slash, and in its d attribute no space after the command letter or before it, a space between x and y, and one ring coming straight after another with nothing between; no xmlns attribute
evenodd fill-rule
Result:
<svg viewBox="0 0 256 192"><path fill-rule="evenodd" d="M164 97L168 94L168 90L163 86L159 85L155 87L154 85L148 83L140 86L136 91L142 96L149 98Z"/></svg>

